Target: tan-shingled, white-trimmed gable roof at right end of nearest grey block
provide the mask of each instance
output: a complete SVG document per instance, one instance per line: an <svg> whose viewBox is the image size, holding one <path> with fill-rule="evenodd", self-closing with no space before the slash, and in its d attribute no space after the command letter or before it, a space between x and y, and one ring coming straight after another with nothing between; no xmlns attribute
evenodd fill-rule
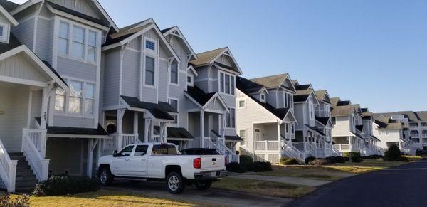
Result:
<svg viewBox="0 0 427 207"><path fill-rule="evenodd" d="M210 65L210 64L216 64L221 68L226 68L228 70L232 70L236 73L238 73L239 75L242 74L242 70L241 68L238 66L236 59L234 58L234 56L231 54L231 51L228 47L224 47L224 48L218 48L212 51L206 51L203 53L197 53L197 60L191 60L190 64L194 65L194 67L201 67L204 65ZM221 63L216 63L215 60L217 60L219 57L221 57L221 55L227 55L231 58L231 60L233 60L233 64L236 67L229 67L227 65L223 65Z"/></svg>

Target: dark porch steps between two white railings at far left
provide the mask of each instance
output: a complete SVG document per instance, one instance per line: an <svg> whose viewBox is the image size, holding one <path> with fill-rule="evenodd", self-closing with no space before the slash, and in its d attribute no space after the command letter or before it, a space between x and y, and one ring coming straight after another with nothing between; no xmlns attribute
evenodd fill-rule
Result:
<svg viewBox="0 0 427 207"><path fill-rule="evenodd" d="M38 181L26 157L23 156L22 152L12 152L9 153L9 156L11 160L18 161L18 164L16 164L15 191L18 193L33 191Z"/></svg>

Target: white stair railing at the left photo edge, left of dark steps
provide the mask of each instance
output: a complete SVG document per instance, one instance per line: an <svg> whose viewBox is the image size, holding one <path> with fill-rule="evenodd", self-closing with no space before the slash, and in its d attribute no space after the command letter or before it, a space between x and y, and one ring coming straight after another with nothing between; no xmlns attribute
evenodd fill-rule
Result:
<svg viewBox="0 0 427 207"><path fill-rule="evenodd" d="M9 193L15 191L17 160L11 160L6 147L0 141L0 186Z"/></svg>

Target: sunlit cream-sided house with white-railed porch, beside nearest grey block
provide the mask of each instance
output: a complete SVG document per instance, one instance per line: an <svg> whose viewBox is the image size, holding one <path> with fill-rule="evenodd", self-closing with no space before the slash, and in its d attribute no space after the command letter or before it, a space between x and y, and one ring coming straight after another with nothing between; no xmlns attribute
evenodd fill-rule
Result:
<svg viewBox="0 0 427 207"><path fill-rule="evenodd" d="M243 141L241 154L257 161L278 163L281 157L303 159L296 149L293 96L288 74L261 78L236 78L237 130Z"/></svg>

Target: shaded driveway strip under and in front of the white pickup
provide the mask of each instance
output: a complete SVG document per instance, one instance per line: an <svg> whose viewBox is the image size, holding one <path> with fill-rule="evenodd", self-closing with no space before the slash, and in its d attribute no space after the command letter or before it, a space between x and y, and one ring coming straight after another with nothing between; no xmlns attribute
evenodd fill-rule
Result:
<svg viewBox="0 0 427 207"><path fill-rule="evenodd" d="M105 189L136 191L154 197L220 206L285 206L286 203L292 201L290 198L273 198L221 189L199 191L194 186L187 186L183 193L173 195L167 192L163 183L157 182L132 184L130 181L115 181L112 186L105 187Z"/></svg>

